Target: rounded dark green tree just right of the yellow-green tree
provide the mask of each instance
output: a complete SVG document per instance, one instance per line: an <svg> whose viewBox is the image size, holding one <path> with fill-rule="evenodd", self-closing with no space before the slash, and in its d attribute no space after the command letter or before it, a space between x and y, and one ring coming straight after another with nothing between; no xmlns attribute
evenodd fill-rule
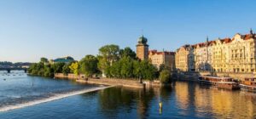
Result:
<svg viewBox="0 0 256 119"><path fill-rule="evenodd" d="M98 72L97 68L98 59L93 55L86 55L84 59L79 61L79 71L84 73L86 77L92 77L93 74Z"/></svg>

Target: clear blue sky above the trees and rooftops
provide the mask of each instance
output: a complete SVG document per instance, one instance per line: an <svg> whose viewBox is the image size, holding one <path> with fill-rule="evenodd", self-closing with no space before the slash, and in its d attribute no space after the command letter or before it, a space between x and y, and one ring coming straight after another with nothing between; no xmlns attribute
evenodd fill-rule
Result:
<svg viewBox="0 0 256 119"><path fill-rule="evenodd" d="M106 44L175 51L256 31L255 0L0 0L0 61L98 54Z"/></svg>

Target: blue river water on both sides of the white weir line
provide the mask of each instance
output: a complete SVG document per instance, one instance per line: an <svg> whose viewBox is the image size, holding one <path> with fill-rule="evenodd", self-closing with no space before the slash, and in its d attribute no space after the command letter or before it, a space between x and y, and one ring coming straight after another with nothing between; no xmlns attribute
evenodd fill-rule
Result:
<svg viewBox="0 0 256 119"><path fill-rule="evenodd" d="M98 87L68 80L28 77L22 72L0 73L0 109ZM163 104L161 110L160 102ZM256 118L256 94L180 81L173 82L169 88L113 87L2 111L0 118Z"/></svg>

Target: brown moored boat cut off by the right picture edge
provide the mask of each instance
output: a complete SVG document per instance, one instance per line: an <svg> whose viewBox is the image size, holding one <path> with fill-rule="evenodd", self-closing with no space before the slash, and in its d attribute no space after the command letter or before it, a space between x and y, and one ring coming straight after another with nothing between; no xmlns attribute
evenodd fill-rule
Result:
<svg viewBox="0 0 256 119"><path fill-rule="evenodd" d="M244 78L244 81L241 81L239 86L241 90L256 92L256 78Z"/></svg>

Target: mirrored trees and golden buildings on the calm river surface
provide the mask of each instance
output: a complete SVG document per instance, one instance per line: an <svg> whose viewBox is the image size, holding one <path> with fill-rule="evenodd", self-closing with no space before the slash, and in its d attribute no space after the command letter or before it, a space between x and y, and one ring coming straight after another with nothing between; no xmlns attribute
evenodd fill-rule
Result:
<svg viewBox="0 0 256 119"><path fill-rule="evenodd" d="M166 88L108 88L99 92L106 116L133 113L145 117L255 118L256 94L230 91L196 82L174 82ZM159 102L163 103L162 112Z"/></svg>

